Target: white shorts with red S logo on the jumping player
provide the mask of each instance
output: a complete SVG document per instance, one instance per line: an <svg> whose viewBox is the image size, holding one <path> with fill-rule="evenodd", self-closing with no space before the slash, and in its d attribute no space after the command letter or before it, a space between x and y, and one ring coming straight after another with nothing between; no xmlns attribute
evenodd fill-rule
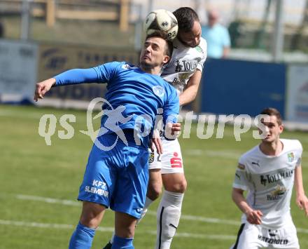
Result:
<svg viewBox="0 0 308 249"><path fill-rule="evenodd" d="M162 174L183 173L183 159L179 141L162 138L162 154L151 152L148 169L161 169Z"/></svg>

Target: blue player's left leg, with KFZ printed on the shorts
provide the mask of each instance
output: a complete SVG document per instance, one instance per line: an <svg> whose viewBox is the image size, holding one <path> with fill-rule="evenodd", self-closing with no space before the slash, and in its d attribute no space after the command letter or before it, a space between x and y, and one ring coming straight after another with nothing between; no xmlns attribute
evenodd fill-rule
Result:
<svg viewBox="0 0 308 249"><path fill-rule="evenodd" d="M104 141L110 137L104 136ZM78 200L83 201L83 210L76 231L71 236L69 248L90 248L95 229L109 207L116 180L111 152L102 152L93 145L87 161L83 182L80 185Z"/></svg>

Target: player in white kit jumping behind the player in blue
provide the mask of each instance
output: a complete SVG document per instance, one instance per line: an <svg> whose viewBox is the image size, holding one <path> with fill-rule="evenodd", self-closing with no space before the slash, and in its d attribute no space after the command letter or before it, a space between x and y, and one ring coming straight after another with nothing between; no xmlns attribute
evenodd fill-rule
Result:
<svg viewBox="0 0 308 249"><path fill-rule="evenodd" d="M161 76L176 88L182 106L195 100L197 95L207 58L207 42L201 37L200 20L192 8L178 8L174 15L178 20L179 32L174 40L172 59ZM169 249L179 225L187 183L179 141L162 137L162 149L162 155L151 153L149 156L150 178L142 217L148 206L160 196L164 185L165 191L158 207L155 248ZM111 248L112 241L111 238L104 249Z"/></svg>

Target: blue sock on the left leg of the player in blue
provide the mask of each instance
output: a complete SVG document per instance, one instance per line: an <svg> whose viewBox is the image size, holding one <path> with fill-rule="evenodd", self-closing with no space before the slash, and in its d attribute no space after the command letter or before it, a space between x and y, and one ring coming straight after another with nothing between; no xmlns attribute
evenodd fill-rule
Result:
<svg viewBox="0 0 308 249"><path fill-rule="evenodd" d="M71 241L69 241L69 249L88 249L91 248L95 229L85 227L80 222L76 230L73 231Z"/></svg>

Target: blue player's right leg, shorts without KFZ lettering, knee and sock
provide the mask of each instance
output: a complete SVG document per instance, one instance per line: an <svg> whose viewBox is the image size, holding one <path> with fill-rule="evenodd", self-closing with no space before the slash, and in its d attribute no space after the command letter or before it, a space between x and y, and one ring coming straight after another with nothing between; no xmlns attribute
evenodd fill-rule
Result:
<svg viewBox="0 0 308 249"><path fill-rule="evenodd" d="M130 145L123 148L126 165L118 168L118 178L110 205L111 209L116 211L116 234L111 248L134 248L134 229L146 201L148 151Z"/></svg>

